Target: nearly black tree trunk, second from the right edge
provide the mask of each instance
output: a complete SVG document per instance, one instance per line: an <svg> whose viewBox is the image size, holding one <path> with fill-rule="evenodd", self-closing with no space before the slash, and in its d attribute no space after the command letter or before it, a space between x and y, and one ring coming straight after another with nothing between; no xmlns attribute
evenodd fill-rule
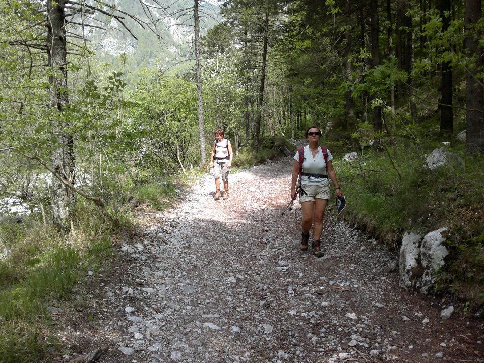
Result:
<svg viewBox="0 0 484 363"><path fill-rule="evenodd" d="M442 16L442 31L449 29L451 0L440 1L440 14ZM447 16L444 12L448 12ZM440 105L440 133L452 135L454 128L454 112L452 108L452 68L450 62L441 65L441 105Z"/></svg>

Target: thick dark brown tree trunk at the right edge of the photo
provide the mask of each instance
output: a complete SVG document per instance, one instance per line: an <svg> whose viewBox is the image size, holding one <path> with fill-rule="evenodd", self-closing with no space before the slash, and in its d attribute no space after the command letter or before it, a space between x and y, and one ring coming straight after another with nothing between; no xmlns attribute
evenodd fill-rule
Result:
<svg viewBox="0 0 484 363"><path fill-rule="evenodd" d="M475 56L475 67L468 70L466 78L467 154L481 153L484 150L484 87L482 79L477 79L477 75L483 71L484 58L479 48L482 34L475 29L481 17L481 0L466 0L464 47L468 51L467 56Z"/></svg>

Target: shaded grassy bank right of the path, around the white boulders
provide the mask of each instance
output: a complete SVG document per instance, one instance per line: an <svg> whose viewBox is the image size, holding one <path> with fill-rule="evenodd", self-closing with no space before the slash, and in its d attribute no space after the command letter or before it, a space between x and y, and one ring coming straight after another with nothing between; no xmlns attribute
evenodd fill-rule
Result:
<svg viewBox="0 0 484 363"><path fill-rule="evenodd" d="M356 161L334 161L340 184L351 201L345 218L392 250L399 249L406 231L425 234L436 226L448 227L451 253L437 277L436 291L450 291L473 305L482 305L484 159L466 158L464 170L423 167L423 150L430 153L441 146L438 140L423 141L421 135L428 135L425 128L405 128L393 145L382 139L390 156L377 148L364 148ZM456 144L449 151L465 158L463 145ZM467 185L472 188L462 187Z"/></svg>

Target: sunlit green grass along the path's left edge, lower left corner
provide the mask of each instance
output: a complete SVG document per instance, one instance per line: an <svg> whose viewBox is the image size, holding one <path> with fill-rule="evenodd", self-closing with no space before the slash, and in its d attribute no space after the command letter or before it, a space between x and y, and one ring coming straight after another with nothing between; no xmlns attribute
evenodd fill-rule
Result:
<svg viewBox="0 0 484 363"><path fill-rule="evenodd" d="M73 218L70 234L40 224L35 216L26 217L23 224L0 227L0 239L9 251L0 261L2 362L51 360L61 344L46 308L71 298L85 271L96 270L111 256L112 237L128 225L82 200L73 209Z"/></svg>

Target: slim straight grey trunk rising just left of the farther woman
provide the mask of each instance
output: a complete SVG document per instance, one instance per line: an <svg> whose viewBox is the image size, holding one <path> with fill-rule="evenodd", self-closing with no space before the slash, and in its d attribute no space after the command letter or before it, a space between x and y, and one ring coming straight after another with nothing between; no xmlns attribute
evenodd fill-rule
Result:
<svg viewBox="0 0 484 363"><path fill-rule="evenodd" d="M195 20L195 79L197 82L197 103L198 103L198 133L200 137L200 167L207 162L205 151L205 125L203 119L203 98L202 98L202 75L200 70L200 24L198 16L198 2L194 0L193 14Z"/></svg>

